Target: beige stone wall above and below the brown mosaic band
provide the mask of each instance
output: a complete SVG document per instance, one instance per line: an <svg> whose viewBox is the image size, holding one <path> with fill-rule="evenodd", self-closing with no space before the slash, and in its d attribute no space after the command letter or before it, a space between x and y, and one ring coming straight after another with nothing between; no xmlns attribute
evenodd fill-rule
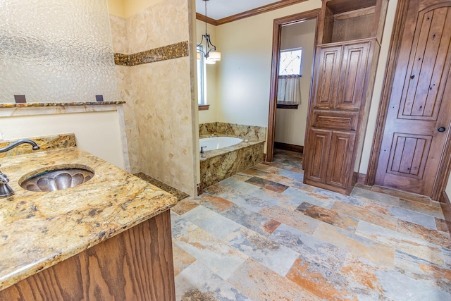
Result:
<svg viewBox="0 0 451 301"><path fill-rule="evenodd" d="M190 39L194 1L153 2L128 18L111 16L115 52L133 54ZM127 102L125 130L132 171L195 195L199 164L191 59L116 66L116 74L121 100Z"/></svg>

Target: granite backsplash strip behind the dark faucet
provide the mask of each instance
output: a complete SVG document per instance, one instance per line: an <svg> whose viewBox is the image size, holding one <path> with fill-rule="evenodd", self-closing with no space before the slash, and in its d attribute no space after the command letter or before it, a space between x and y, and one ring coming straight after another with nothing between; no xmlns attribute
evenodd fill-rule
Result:
<svg viewBox="0 0 451 301"><path fill-rule="evenodd" d="M67 147L76 147L77 143L75 142L74 134L61 134L61 135L53 135L47 137L36 137L30 138L35 141L37 145L39 145L39 149L34 151L31 146L28 144L19 145L11 149L8 152L0 153L0 158L4 158L6 156L17 156L19 154L30 154L31 152L44 152L50 149L62 149ZM0 142L0 148L6 147L10 145L12 142L16 142L15 140L8 140Z"/></svg>

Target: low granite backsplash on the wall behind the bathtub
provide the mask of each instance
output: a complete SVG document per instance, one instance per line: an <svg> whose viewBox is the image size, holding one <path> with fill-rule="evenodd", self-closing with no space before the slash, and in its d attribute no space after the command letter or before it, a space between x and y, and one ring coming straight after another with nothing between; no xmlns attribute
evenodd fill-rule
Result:
<svg viewBox="0 0 451 301"><path fill-rule="evenodd" d="M244 140L266 140L266 128L254 125L240 125L233 123L202 123L199 124L199 136L201 138L216 136L240 137Z"/></svg>

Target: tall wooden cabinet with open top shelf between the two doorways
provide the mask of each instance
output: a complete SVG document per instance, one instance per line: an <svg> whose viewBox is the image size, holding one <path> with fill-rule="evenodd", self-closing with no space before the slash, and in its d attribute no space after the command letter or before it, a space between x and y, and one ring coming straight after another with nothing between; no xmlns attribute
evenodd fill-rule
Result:
<svg viewBox="0 0 451 301"><path fill-rule="evenodd" d="M323 0L304 183L349 195L362 154L388 0Z"/></svg>

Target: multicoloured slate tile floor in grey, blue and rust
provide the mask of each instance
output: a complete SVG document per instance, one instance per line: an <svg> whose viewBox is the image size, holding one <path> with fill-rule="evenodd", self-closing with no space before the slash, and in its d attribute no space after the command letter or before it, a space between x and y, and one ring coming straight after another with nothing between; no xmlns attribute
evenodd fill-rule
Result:
<svg viewBox="0 0 451 301"><path fill-rule="evenodd" d="M304 185L301 168L278 151L173 207L177 300L451 300L437 202L340 195Z"/></svg>

